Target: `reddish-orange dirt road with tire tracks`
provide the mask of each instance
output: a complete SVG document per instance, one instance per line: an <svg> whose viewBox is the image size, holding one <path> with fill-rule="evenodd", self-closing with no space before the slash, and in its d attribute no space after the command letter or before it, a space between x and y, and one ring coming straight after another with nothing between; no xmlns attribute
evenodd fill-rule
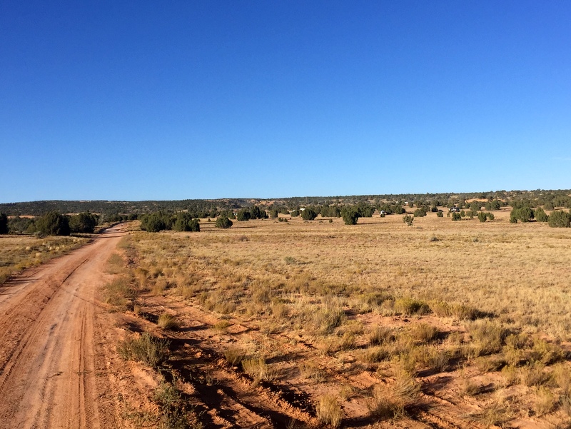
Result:
<svg viewBox="0 0 571 429"><path fill-rule="evenodd" d="M0 288L0 428L107 428L96 291L124 236L107 230Z"/></svg>

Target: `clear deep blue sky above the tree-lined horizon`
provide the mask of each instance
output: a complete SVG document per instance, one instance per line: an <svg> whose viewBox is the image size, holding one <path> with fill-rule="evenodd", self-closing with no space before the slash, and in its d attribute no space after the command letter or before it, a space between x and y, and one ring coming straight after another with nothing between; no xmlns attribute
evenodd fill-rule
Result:
<svg viewBox="0 0 571 429"><path fill-rule="evenodd" d="M0 202L571 188L570 1L0 3Z"/></svg>

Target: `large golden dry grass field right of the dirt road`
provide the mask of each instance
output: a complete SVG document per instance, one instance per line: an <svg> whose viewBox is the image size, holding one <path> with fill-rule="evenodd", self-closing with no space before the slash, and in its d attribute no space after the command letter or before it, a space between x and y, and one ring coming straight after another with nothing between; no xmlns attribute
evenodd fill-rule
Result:
<svg viewBox="0 0 571 429"><path fill-rule="evenodd" d="M568 428L571 231L509 213L133 232L110 302L191 344L168 365L206 427Z"/></svg>

